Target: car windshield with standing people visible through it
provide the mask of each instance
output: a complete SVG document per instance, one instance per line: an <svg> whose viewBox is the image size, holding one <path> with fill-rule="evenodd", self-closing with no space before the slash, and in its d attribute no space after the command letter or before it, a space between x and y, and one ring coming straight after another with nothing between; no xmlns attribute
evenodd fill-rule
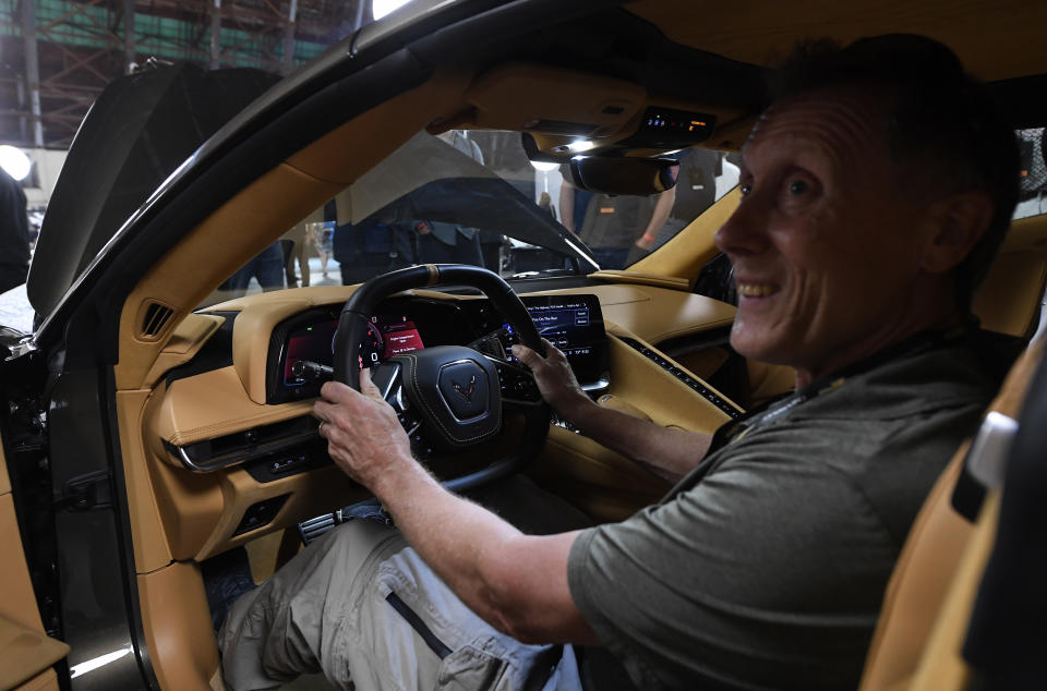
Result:
<svg viewBox="0 0 1047 691"><path fill-rule="evenodd" d="M419 132L265 247L205 304L298 286L353 284L416 264L469 264L503 278L622 269L730 191L738 168L684 150L677 187L595 194L566 166L532 163L518 132Z"/></svg>

